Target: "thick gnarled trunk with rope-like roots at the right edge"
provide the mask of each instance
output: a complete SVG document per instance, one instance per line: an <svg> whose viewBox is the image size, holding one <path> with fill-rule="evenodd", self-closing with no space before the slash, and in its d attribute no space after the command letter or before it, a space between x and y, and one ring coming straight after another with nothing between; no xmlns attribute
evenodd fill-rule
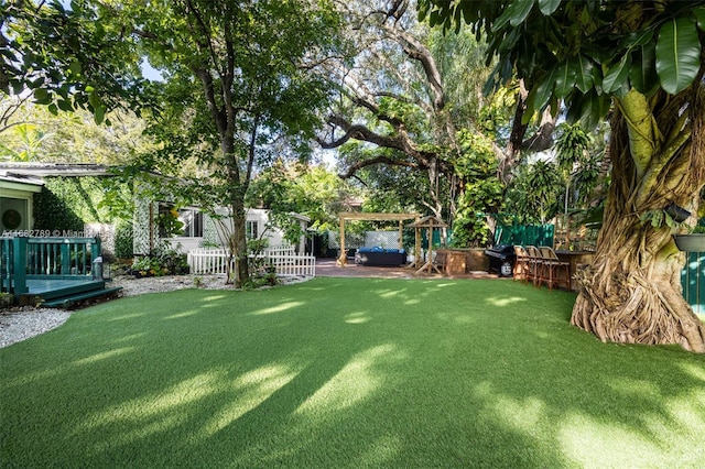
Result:
<svg viewBox="0 0 705 469"><path fill-rule="evenodd" d="M703 87L696 81L690 92L648 102L633 92L616 102L604 226L594 263L576 273L581 291L571 318L603 341L679 343L705 353L705 327L682 295L684 254L671 236L682 228L640 219L670 203L697 212L705 182ZM642 128L634 118L640 113L647 117Z"/></svg>

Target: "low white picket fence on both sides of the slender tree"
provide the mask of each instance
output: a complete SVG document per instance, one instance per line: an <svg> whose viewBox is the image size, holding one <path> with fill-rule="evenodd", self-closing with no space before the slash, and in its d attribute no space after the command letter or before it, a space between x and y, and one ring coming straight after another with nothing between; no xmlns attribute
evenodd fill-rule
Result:
<svg viewBox="0 0 705 469"><path fill-rule="evenodd" d="M316 276L316 258L296 254L293 247L267 249L260 257L276 269L278 276ZM218 248L193 249L188 251L187 262L193 274L225 274L228 271L228 251Z"/></svg>

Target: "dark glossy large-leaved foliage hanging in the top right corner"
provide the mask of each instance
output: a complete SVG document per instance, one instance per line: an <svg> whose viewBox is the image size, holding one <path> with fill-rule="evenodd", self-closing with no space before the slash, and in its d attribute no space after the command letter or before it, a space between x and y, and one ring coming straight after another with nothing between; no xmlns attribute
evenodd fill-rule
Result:
<svg viewBox="0 0 705 469"><path fill-rule="evenodd" d="M570 118L587 129L607 114L610 96L630 87L676 95L695 80L703 66L703 0L419 2L432 26L458 32L469 23L487 37L488 61L498 57L487 89L516 70L530 86L528 118L547 106L557 111L563 100Z"/></svg>

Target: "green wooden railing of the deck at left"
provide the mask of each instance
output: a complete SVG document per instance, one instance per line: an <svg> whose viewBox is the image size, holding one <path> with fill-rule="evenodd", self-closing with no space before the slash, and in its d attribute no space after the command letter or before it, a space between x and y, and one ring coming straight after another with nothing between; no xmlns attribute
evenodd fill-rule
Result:
<svg viewBox="0 0 705 469"><path fill-rule="evenodd" d="M0 238L0 291L28 293L32 279L85 279L100 238Z"/></svg>

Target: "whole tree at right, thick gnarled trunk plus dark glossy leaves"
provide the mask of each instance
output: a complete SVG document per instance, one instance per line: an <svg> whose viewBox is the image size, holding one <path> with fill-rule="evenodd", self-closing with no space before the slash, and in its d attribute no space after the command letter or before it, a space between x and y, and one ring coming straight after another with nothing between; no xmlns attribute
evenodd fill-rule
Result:
<svg viewBox="0 0 705 469"><path fill-rule="evenodd" d="M672 239L685 228L657 222L672 203L696 214L705 185L705 1L422 0L420 13L486 36L494 81L527 83L528 116L563 100L594 126L611 109L604 226L571 321L605 341L705 352Z"/></svg>

